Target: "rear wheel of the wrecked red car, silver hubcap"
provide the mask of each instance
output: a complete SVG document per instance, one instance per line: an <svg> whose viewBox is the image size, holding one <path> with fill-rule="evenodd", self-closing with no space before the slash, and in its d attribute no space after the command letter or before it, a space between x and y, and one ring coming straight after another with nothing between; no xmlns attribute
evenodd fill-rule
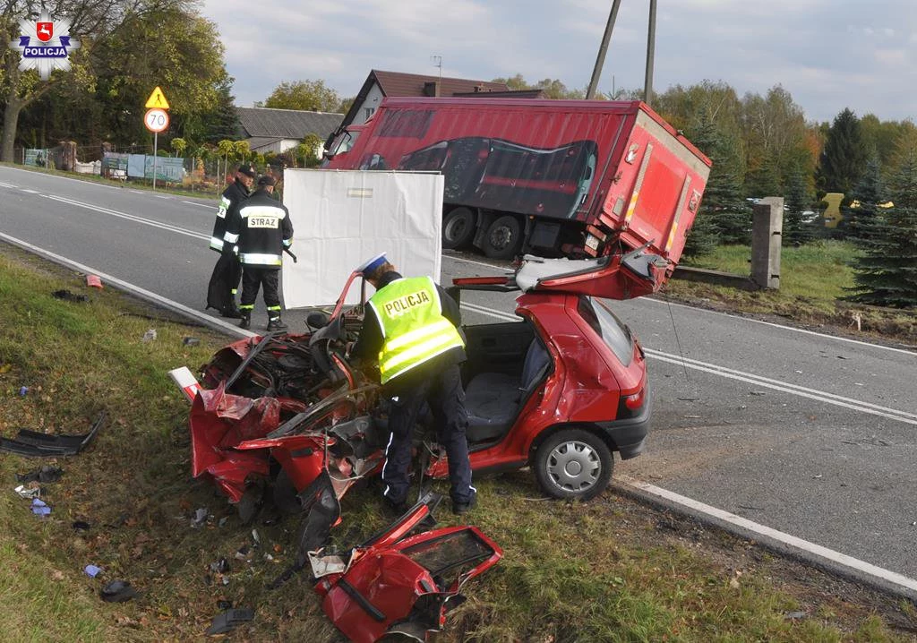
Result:
<svg viewBox="0 0 917 643"><path fill-rule="evenodd" d="M535 477L547 495L591 500L612 479L614 460L602 438L579 428L547 438L535 454Z"/></svg>

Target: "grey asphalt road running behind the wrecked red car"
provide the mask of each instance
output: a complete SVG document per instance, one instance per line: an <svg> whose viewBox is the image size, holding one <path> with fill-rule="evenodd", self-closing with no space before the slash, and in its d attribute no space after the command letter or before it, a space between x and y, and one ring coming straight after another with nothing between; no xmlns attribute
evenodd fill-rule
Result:
<svg viewBox="0 0 917 643"><path fill-rule="evenodd" d="M214 198L0 167L0 203L6 235L203 309ZM499 272L447 253L442 281ZM510 319L513 300L466 296L466 320ZM655 414L616 474L917 578L917 352L657 299L614 308L646 348Z"/></svg>

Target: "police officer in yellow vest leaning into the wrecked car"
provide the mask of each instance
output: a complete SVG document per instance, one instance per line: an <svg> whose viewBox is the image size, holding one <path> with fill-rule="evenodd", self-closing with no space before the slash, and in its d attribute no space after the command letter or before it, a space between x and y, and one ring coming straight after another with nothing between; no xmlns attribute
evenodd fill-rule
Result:
<svg viewBox="0 0 917 643"><path fill-rule="evenodd" d="M407 506L411 430L426 402L448 457L452 511L464 514L474 505L476 492L471 486L465 438L468 413L458 371L458 364L466 359L465 341L458 331L458 304L429 277L402 277L384 254L358 271L376 294L366 307L350 355L378 358L382 390L391 402L392 437L382 469L385 498L397 511Z"/></svg>

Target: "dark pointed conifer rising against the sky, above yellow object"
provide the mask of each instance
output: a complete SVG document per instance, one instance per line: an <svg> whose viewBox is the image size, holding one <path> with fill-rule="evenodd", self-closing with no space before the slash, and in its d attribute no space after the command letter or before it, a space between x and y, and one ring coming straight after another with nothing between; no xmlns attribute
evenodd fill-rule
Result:
<svg viewBox="0 0 917 643"><path fill-rule="evenodd" d="M863 172L867 150L859 119L849 108L834 118L819 158L817 178L824 192L850 194Z"/></svg>

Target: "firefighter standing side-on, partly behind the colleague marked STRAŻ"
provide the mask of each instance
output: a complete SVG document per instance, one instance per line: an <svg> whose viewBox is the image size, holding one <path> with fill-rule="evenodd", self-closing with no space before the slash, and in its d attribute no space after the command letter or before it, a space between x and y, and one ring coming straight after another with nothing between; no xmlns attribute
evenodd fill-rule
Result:
<svg viewBox="0 0 917 643"><path fill-rule="evenodd" d="M216 209L214 233L210 237L210 249L220 253L216 260L214 272L207 285L207 308L215 308L224 317L238 318L236 293L238 282L242 278L242 267L238 263L233 244L224 242L226 234L226 215L230 208L249 198L252 183L255 183L255 168L240 165L236 171L236 180L230 183L220 196L220 205Z"/></svg>

